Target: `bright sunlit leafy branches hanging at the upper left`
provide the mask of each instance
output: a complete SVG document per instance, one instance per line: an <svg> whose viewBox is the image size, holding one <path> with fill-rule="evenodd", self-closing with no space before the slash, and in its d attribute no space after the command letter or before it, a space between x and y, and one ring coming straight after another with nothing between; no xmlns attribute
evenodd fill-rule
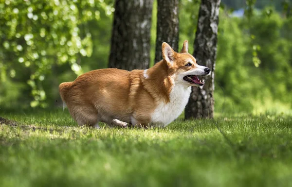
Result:
<svg viewBox="0 0 292 187"><path fill-rule="evenodd" d="M92 54L88 21L99 20L100 11L110 15L113 10L104 0L1 1L0 81L5 82L6 72L28 80L31 106L45 107L42 82L54 65L69 63L76 75L83 73L78 60Z"/></svg>

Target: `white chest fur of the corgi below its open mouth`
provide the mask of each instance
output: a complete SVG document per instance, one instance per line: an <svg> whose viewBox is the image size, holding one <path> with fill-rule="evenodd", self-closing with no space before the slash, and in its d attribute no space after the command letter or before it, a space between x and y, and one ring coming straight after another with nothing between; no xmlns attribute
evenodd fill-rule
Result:
<svg viewBox="0 0 292 187"><path fill-rule="evenodd" d="M161 101L151 115L153 126L166 126L178 118L187 104L191 93L191 87L174 85L169 96L170 102Z"/></svg>

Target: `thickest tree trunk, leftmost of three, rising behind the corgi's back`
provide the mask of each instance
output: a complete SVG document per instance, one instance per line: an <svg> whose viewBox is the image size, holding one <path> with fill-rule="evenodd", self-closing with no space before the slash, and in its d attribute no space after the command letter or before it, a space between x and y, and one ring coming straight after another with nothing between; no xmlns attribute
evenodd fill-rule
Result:
<svg viewBox="0 0 292 187"><path fill-rule="evenodd" d="M109 68L149 67L153 0L116 0Z"/></svg>

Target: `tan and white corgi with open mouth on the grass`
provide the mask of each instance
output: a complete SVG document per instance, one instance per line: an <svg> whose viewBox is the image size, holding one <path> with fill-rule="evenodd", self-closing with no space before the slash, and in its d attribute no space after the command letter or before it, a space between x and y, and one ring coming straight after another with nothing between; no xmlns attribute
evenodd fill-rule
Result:
<svg viewBox="0 0 292 187"><path fill-rule="evenodd" d="M210 69L199 66L188 53L188 41L175 52L162 44L163 60L145 70L106 68L80 75L75 81L59 85L59 93L79 125L99 128L165 127L182 114L191 86L202 86L198 76Z"/></svg>

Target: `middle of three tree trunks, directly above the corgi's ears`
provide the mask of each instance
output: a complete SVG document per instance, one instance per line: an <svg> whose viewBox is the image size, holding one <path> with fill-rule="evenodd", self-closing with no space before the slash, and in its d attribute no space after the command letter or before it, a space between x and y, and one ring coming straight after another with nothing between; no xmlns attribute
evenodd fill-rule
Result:
<svg viewBox="0 0 292 187"><path fill-rule="evenodd" d="M178 51L179 42L179 0L157 0L157 35L155 62L162 60L162 43L168 43Z"/></svg>

